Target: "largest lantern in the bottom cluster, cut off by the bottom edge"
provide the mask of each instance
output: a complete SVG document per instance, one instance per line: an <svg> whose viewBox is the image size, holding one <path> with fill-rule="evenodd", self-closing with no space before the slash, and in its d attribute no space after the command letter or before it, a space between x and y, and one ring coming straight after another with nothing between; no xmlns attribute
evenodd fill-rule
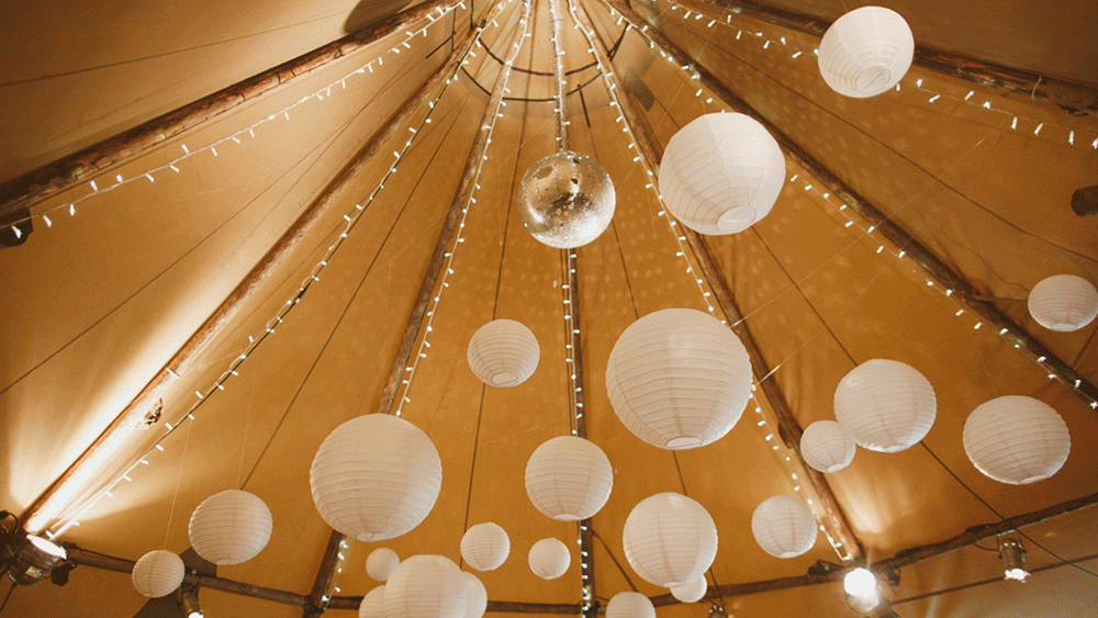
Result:
<svg viewBox="0 0 1098 618"><path fill-rule="evenodd" d="M385 584L388 618L464 618L468 605L464 574L442 555L413 555Z"/></svg>

